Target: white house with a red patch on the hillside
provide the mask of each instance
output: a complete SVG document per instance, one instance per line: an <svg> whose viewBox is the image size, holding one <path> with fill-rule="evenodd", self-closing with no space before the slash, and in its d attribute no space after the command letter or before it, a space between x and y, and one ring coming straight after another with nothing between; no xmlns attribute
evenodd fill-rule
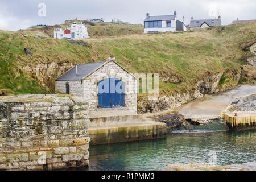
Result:
<svg viewBox="0 0 256 182"><path fill-rule="evenodd" d="M73 23L71 27L67 27L65 30L61 28L54 28L55 39L87 39L88 36L87 27L81 22L81 24Z"/></svg>

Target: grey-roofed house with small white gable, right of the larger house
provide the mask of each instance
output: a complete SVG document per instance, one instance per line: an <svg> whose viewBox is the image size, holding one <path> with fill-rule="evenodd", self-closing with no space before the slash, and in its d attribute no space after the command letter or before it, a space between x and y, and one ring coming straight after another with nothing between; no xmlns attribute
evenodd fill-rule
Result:
<svg viewBox="0 0 256 182"><path fill-rule="evenodd" d="M189 23L190 30L216 26L221 26L221 16L218 16L218 19L193 19L192 16Z"/></svg>

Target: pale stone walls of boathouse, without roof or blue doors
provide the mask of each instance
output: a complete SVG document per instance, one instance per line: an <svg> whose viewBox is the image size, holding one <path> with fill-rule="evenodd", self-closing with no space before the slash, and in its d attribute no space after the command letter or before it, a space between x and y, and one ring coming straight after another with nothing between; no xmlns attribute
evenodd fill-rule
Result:
<svg viewBox="0 0 256 182"><path fill-rule="evenodd" d="M98 85L106 78L117 78L125 82L125 107L137 112L137 79L114 61L109 61L103 67L97 69L84 80L60 80L55 83L57 93L66 93L66 82L69 84L70 94L80 96L88 100L89 110L98 110Z"/></svg>

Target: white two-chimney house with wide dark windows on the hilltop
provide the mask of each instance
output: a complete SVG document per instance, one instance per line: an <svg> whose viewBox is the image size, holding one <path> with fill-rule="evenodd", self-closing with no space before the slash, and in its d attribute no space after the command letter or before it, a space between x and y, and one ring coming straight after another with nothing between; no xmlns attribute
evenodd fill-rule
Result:
<svg viewBox="0 0 256 182"><path fill-rule="evenodd" d="M179 27L177 30L177 27ZM177 12L173 15L150 16L146 14L144 19L144 34L148 33L162 33L162 32L176 32L186 31L185 24L177 20Z"/></svg>

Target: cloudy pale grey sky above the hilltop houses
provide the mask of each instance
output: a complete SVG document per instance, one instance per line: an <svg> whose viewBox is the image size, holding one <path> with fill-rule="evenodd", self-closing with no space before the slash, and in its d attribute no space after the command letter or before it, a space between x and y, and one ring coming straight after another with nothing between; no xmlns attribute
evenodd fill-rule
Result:
<svg viewBox="0 0 256 182"><path fill-rule="evenodd" d="M46 5L46 16L39 3ZM39 16L38 15L39 11ZM19 30L36 24L60 24L66 19L121 19L133 24L143 24L146 13L172 15L189 24L194 19L213 19L221 15L222 24L232 20L256 19L255 0L1 0L0 29Z"/></svg>

